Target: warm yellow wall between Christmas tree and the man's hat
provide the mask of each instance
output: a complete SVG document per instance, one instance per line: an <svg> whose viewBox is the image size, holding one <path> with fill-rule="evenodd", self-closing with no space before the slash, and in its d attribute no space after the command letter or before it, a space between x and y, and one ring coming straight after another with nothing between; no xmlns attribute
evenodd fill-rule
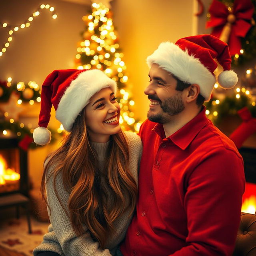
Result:
<svg viewBox="0 0 256 256"><path fill-rule="evenodd" d="M144 88L148 84L146 57L159 43L191 36L196 32L197 7L194 0L114 0L111 2L114 26L120 48L133 85L133 98L136 102L136 117L146 118L148 99Z"/></svg>

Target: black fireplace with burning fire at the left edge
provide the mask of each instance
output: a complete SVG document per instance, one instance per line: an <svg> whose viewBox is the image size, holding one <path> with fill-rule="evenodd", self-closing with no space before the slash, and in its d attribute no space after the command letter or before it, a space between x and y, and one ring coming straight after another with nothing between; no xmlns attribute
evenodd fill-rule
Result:
<svg viewBox="0 0 256 256"><path fill-rule="evenodd" d="M16 138L0 138L0 196L17 192L28 196L27 152Z"/></svg>

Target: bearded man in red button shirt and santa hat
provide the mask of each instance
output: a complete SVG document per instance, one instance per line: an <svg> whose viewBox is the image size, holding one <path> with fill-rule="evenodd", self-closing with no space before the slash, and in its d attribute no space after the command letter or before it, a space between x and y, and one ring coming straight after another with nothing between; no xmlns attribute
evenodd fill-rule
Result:
<svg viewBox="0 0 256 256"><path fill-rule="evenodd" d="M234 143L206 118L216 78L237 83L226 43L211 35L164 42L148 57L148 120L136 214L124 256L230 256L244 192L243 160Z"/></svg>

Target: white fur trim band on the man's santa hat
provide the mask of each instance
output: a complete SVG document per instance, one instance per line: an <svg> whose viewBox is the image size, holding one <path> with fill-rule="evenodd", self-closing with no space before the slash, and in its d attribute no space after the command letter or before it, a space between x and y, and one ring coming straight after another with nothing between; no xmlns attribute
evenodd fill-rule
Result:
<svg viewBox="0 0 256 256"><path fill-rule="evenodd" d="M185 83L198 84L200 94L206 101L210 100L216 78L198 58L189 55L188 50L183 51L172 42L162 42L147 58L150 68L153 63L158 64L160 68L172 73Z"/></svg>

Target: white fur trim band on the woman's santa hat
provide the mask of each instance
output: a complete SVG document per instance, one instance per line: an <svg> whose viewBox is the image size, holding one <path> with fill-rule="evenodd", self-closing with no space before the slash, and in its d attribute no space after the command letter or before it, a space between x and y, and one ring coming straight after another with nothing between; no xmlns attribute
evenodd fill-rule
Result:
<svg viewBox="0 0 256 256"><path fill-rule="evenodd" d="M116 82L98 69L84 71L70 83L56 110L56 119L66 131L71 131L76 117L89 103L90 98L106 87L116 92Z"/></svg>

